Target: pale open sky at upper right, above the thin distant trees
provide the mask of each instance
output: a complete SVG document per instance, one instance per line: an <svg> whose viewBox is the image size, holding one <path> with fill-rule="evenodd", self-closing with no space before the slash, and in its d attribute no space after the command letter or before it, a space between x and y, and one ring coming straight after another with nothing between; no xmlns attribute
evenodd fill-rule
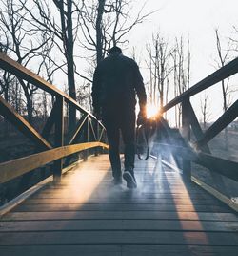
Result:
<svg viewBox="0 0 238 256"><path fill-rule="evenodd" d="M138 5L134 11L137 11L143 1L135 1L138 2ZM185 38L189 37L190 41L191 85L214 72L214 59L217 57L214 30L219 29L223 47L226 49L228 37L233 32L232 26L238 27L238 1L148 0L145 12L153 10L158 11L131 32L130 45L137 46L143 53L145 43L149 41L153 32L160 31L170 40L175 36L183 35ZM142 73L145 72L142 64ZM211 118L219 117L222 112L222 102L218 100L222 97L221 87L213 86L208 89L208 94L212 95L213 98L216 97L216 104L214 102L211 104L211 108L213 108L211 109L213 115ZM237 94L235 97L237 98ZM201 95L192 98L197 111L200 109L198 106L200 99Z"/></svg>

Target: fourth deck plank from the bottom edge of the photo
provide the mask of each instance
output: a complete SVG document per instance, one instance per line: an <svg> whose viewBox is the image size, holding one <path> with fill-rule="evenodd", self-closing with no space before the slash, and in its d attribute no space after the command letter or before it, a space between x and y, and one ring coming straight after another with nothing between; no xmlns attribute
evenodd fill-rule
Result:
<svg viewBox="0 0 238 256"><path fill-rule="evenodd" d="M159 212L159 211L60 211L60 212L10 212L2 222L47 220L180 220L209 222L238 222L234 213L210 212Z"/></svg>

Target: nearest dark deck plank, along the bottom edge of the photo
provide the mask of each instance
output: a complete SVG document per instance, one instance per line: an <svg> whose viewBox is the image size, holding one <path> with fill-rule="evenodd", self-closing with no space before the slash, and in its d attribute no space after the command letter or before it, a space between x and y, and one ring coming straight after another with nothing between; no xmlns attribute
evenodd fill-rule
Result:
<svg viewBox="0 0 238 256"><path fill-rule="evenodd" d="M4 256L237 256L237 246L207 245L15 245L0 247Z"/></svg>

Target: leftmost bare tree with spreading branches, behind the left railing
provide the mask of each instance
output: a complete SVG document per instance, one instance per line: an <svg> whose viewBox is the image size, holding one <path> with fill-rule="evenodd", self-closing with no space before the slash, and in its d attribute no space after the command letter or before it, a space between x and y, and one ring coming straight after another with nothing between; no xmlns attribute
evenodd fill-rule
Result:
<svg viewBox="0 0 238 256"><path fill-rule="evenodd" d="M13 0L1 0L2 11L0 12L0 27L5 35L6 43L10 55L16 58L16 61L29 66L30 62L37 62L43 53L43 47L47 41L40 41L39 32L30 26L29 16L24 11L23 5L27 0L22 1L22 5L16 4ZM41 66L35 70L39 74ZM18 79L26 97L27 111L29 121L32 121L32 97L37 90L29 82Z"/></svg>

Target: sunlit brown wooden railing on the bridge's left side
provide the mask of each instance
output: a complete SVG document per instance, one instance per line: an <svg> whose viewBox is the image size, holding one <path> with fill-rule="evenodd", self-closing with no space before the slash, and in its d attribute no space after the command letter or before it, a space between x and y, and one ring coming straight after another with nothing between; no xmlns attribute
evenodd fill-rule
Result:
<svg viewBox="0 0 238 256"><path fill-rule="evenodd" d="M72 154L83 151L84 160L87 160L89 150L91 154L97 154L98 148L108 148L106 130L103 124L74 99L40 76L33 74L4 53L0 53L0 68L48 92L55 98L45 126L39 133L0 96L0 115L30 139L34 143L35 149L35 154L0 163L0 184L50 162L53 162L54 181L59 181L62 174L63 161L65 161L65 165L69 164L69 158ZM64 129L64 108L66 104L69 104L70 107L75 108L76 112L80 113L80 118L76 120L74 127L68 130L67 135ZM52 133L53 127L54 132Z"/></svg>

